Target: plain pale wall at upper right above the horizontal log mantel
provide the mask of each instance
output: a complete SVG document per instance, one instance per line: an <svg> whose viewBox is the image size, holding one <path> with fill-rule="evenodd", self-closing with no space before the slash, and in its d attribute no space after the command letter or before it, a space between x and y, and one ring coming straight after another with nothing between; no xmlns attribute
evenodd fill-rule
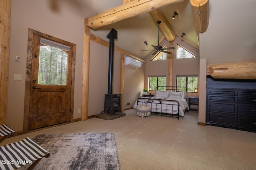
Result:
<svg viewBox="0 0 256 170"><path fill-rule="evenodd" d="M199 34L207 64L256 59L256 1L210 0L209 26Z"/></svg>

